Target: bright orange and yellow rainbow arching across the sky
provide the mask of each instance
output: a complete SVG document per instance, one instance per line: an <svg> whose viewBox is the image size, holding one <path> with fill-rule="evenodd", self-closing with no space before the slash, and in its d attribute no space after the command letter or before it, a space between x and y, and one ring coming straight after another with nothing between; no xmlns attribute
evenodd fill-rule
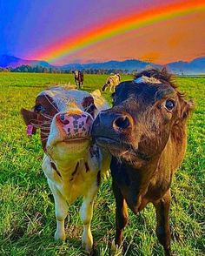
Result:
<svg viewBox="0 0 205 256"><path fill-rule="evenodd" d="M81 31L73 37L68 37L61 40L61 42L46 46L42 51L32 52L32 56L35 56L37 59L55 62L77 51L84 50L93 44L102 42L107 38L166 21L173 17L181 17L204 10L205 0L191 0L157 6L142 13L129 13L129 15L120 19L109 21L108 24L98 24L90 30Z"/></svg>

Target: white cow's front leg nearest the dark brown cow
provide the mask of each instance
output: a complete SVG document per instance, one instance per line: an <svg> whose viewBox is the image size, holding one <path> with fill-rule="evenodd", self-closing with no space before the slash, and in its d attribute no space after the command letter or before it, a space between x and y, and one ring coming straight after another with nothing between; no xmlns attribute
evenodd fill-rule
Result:
<svg viewBox="0 0 205 256"><path fill-rule="evenodd" d="M89 253L91 253L93 249L93 237L90 230L90 223L93 216L93 203L96 192L97 187L84 195L83 205L81 206L80 210L80 216L83 222L82 246Z"/></svg>

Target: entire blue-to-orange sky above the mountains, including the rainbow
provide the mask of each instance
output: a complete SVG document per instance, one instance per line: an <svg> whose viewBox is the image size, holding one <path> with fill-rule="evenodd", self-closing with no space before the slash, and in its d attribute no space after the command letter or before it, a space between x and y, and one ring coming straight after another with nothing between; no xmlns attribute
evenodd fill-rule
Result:
<svg viewBox="0 0 205 256"><path fill-rule="evenodd" d="M51 64L205 56L205 0L0 0L0 55Z"/></svg>

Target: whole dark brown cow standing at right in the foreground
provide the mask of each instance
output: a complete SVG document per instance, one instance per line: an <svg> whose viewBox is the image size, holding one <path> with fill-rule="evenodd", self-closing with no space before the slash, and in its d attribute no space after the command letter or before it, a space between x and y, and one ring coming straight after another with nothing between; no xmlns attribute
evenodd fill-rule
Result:
<svg viewBox="0 0 205 256"><path fill-rule="evenodd" d="M142 71L134 81L119 84L113 99L113 107L96 118L92 135L113 155L115 245L122 244L127 205L137 213L151 202L157 237L165 254L171 255L170 185L184 158L187 118L193 103L184 99L165 69Z"/></svg>

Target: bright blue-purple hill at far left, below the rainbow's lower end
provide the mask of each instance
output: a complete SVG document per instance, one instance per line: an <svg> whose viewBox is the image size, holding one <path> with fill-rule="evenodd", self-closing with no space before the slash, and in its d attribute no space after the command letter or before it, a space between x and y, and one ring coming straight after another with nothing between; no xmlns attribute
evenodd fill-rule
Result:
<svg viewBox="0 0 205 256"><path fill-rule="evenodd" d="M46 61L39 61L39 60L28 60L22 59L15 56L10 55L0 55L0 67L7 68L16 68L21 65L30 65L30 66L43 66L43 67L50 67L51 65Z"/></svg>

